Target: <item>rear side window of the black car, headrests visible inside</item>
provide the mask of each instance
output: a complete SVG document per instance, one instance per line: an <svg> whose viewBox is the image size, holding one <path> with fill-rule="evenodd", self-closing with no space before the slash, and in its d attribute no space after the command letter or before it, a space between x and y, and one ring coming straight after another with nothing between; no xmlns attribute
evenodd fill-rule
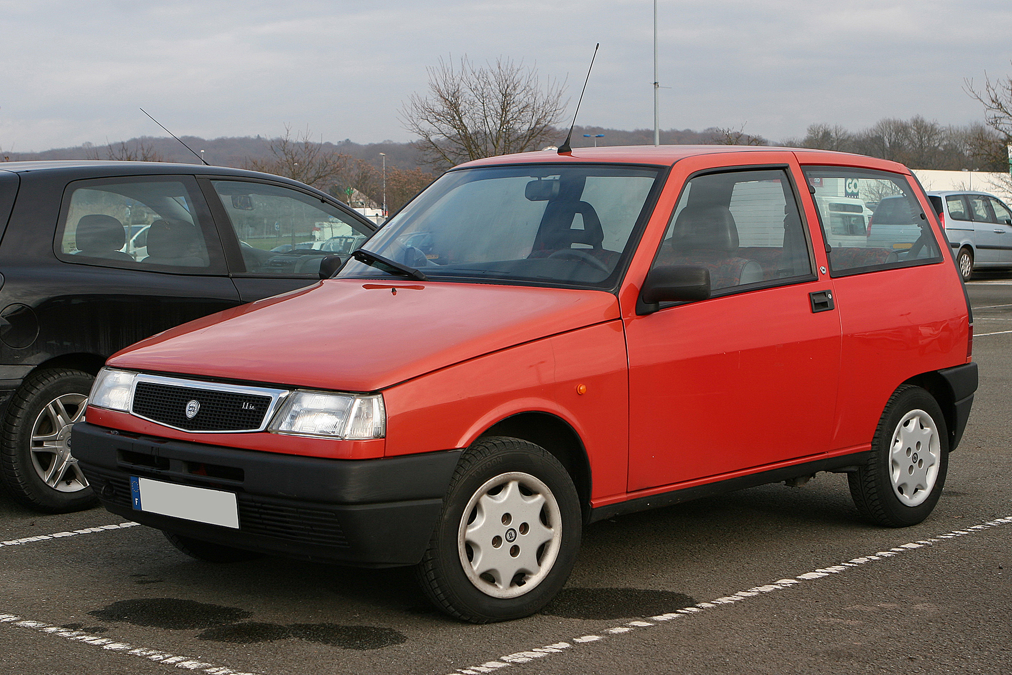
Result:
<svg viewBox="0 0 1012 675"><path fill-rule="evenodd" d="M188 176L75 181L64 195L57 255L89 265L222 273L198 195Z"/></svg>

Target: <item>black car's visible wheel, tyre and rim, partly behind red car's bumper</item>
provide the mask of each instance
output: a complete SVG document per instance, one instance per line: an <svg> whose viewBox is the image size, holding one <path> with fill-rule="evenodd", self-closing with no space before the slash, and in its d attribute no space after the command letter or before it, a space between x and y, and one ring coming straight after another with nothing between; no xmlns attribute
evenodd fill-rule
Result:
<svg viewBox="0 0 1012 675"><path fill-rule="evenodd" d="M98 503L70 453L70 427L84 419L93 381L83 370L39 370L11 399L0 427L0 477L24 506L67 513Z"/></svg>

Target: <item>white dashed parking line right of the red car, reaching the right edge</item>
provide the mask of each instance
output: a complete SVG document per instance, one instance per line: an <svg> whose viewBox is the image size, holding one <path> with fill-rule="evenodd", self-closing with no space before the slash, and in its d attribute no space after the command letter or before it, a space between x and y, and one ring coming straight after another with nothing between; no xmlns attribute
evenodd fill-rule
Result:
<svg viewBox="0 0 1012 675"><path fill-rule="evenodd" d="M512 664L517 663L527 663L528 661L533 661L534 659L543 659L553 654L561 654L567 650L574 649L580 645L585 645L588 643L595 643L600 640L605 640L611 636L622 635L627 632L632 632L634 630L639 630L641 628L647 628L655 626L658 623L664 621L670 621L677 618L684 618L686 616L691 616L692 614L698 614L709 609L714 609L721 605L733 604L735 602L741 602L742 600L747 600L748 598L753 598L764 593L771 593L773 591L783 590L785 588L790 588L797 584L803 584L810 581L815 581L816 579L822 579L823 577L829 577L834 574L840 574L841 572L846 572L849 568L859 567L861 565L866 565L874 561L883 560L886 558L893 558L894 556L899 556L901 554L908 553L914 549L921 549L926 545L933 545L935 543L943 542L946 539L955 538L958 536L966 536L968 534L976 534L978 532L984 531L991 527L997 527L999 525L1007 525L1012 523L1012 516L1006 516L1004 518L996 518L994 520L989 520L986 523L980 525L974 525L965 529L956 529L951 532L946 532L944 534L938 534L930 539L918 539L917 541L910 541L909 543L904 543L889 551L879 551L874 555L862 556L860 558L852 558L846 563L840 563L839 565L832 565L830 567L820 568L812 572L806 572L805 574L799 574L791 579L780 579L774 581L771 584L765 586L755 586L753 588L738 591L732 595L726 595L724 597L715 598L709 602L697 602L691 607L685 607L684 609L679 609L667 614L659 614L657 616L650 616L647 621L628 621L622 625L612 626L610 628L605 628L601 630L601 635L588 635L580 636L579 638L573 638L573 644L566 642L559 642L552 645L546 645L544 647L536 647L528 652L516 652L514 654L507 654L506 656L501 656L494 661L487 661L478 666L469 666L468 668L459 668L457 670L448 673L448 675L479 675L480 673L492 673L500 668L506 668Z"/></svg>

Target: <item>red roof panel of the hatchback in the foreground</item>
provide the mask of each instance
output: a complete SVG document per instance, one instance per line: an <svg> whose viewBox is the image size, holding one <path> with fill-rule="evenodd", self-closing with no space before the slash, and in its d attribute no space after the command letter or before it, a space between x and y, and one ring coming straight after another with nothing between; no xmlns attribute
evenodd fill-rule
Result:
<svg viewBox="0 0 1012 675"><path fill-rule="evenodd" d="M838 153L829 150L812 150L809 148L776 148L769 146L609 146L605 148L574 148L572 153L566 155L560 155L556 149L551 149L489 157L475 160L474 162L467 162L457 168L566 161L671 165L686 157L696 157L699 155L768 152L792 152L797 155L798 160L803 164L856 164L858 166L874 167L887 171L907 172L907 169L902 164L874 157L866 157L864 155Z"/></svg>

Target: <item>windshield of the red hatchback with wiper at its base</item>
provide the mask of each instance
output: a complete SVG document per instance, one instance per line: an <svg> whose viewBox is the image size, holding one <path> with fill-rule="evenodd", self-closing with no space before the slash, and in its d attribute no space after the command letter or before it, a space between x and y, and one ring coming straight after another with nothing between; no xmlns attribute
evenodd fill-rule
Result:
<svg viewBox="0 0 1012 675"><path fill-rule="evenodd" d="M659 171L615 165L451 171L364 248L429 279L607 285L649 214ZM407 273L356 254L338 276Z"/></svg>

